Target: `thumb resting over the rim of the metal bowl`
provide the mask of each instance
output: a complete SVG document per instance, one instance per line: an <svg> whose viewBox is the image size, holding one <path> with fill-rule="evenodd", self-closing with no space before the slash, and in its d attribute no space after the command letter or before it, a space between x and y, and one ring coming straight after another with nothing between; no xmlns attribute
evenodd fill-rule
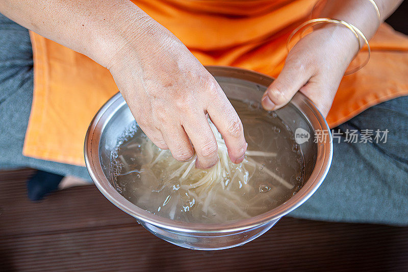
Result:
<svg viewBox="0 0 408 272"><path fill-rule="evenodd" d="M310 69L297 61L287 60L282 72L262 96L262 106L265 110L282 108L311 76Z"/></svg>

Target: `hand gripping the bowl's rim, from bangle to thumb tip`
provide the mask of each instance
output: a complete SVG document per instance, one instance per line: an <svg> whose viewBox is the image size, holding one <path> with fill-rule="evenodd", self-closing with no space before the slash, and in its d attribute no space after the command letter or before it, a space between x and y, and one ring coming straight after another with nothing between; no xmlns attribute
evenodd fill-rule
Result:
<svg viewBox="0 0 408 272"><path fill-rule="evenodd" d="M282 72L265 91L262 106L276 110L301 91L327 116L344 72L358 50L358 40L345 26L327 24L313 31L292 48Z"/></svg>

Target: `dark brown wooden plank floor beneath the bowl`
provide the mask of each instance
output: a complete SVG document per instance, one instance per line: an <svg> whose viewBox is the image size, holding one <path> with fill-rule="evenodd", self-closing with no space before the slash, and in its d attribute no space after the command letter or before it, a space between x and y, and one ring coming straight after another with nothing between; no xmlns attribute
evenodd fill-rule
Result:
<svg viewBox="0 0 408 272"><path fill-rule="evenodd" d="M408 271L408 228L284 217L238 248L193 251L153 236L93 185L29 202L32 173L0 172L0 271Z"/></svg>

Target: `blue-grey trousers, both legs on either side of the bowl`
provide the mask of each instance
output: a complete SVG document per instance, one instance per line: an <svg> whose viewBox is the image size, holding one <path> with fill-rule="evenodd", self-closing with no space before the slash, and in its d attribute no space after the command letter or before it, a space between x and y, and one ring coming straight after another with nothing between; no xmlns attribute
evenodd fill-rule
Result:
<svg viewBox="0 0 408 272"><path fill-rule="evenodd" d="M74 79L73 79L74 80ZM28 31L0 14L0 168L32 167L90 180L84 167L22 156L33 98ZM334 142L319 190L290 215L301 218L408 225L408 97L376 105L335 129L388 130L387 142Z"/></svg>

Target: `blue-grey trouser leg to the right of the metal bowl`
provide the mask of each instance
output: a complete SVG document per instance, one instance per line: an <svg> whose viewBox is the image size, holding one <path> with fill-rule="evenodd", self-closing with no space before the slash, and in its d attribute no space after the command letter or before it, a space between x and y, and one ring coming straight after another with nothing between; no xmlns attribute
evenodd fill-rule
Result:
<svg viewBox="0 0 408 272"><path fill-rule="evenodd" d="M334 154L326 179L292 216L347 222L408 225L408 96L367 109L334 129ZM389 131L387 142L348 143L348 130ZM361 136L361 135L360 135ZM382 136L382 134L381 134ZM373 136L374 138L374 136ZM350 139L350 137L349 137ZM361 137L359 138L360 141Z"/></svg>

